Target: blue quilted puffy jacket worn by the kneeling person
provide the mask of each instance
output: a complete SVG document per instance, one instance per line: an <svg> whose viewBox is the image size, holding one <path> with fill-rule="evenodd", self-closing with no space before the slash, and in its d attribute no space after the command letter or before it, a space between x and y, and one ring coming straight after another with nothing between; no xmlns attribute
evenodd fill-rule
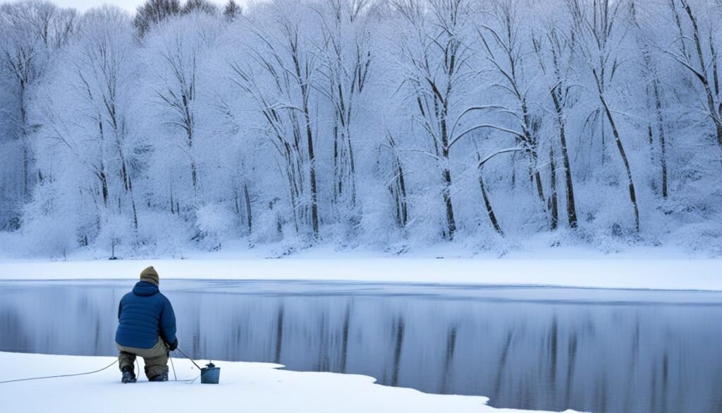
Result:
<svg viewBox="0 0 722 413"><path fill-rule="evenodd" d="M116 343L136 349L150 349L160 336L167 344L175 341L175 313L155 284L139 281L118 306Z"/></svg>

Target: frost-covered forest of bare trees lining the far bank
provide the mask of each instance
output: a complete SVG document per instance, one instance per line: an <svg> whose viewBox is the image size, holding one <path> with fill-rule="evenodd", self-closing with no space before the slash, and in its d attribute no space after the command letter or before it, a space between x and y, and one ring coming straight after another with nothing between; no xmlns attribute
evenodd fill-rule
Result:
<svg viewBox="0 0 722 413"><path fill-rule="evenodd" d="M719 245L720 21L720 0L1 4L0 242Z"/></svg>

